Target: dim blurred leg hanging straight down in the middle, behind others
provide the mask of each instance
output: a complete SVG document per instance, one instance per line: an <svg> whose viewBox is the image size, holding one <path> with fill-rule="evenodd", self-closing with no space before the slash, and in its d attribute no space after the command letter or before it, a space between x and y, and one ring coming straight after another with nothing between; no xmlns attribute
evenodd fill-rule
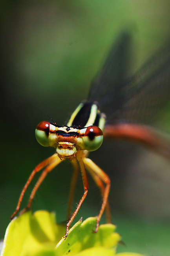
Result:
<svg viewBox="0 0 170 256"><path fill-rule="evenodd" d="M67 210L67 219L70 218L71 216L71 206L73 204L73 197L74 197L74 193L75 193L75 186L76 186L76 182L77 182L77 176L79 174L79 164L77 163L76 159L73 159L71 161L74 171L73 171L73 175L71 178L71 186L70 186L70 190L69 190L69 198L68 198L68 210Z"/></svg>

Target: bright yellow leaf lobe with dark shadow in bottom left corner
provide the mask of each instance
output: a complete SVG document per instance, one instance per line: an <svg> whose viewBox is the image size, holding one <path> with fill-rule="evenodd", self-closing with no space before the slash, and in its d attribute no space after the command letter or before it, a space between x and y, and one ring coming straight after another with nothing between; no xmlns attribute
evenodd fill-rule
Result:
<svg viewBox="0 0 170 256"><path fill-rule="evenodd" d="M55 224L55 214L28 211L7 227L3 256L55 255L55 246L65 234L65 226Z"/></svg>

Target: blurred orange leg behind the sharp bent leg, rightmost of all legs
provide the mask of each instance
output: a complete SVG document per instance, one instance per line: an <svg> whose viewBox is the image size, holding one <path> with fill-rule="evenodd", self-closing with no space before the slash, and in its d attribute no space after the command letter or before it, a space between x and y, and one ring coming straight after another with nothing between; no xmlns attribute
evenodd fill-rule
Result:
<svg viewBox="0 0 170 256"><path fill-rule="evenodd" d="M86 169L88 170L88 172L92 176L92 178L93 178L94 182L96 183L96 185L99 187L99 189L101 191L101 196L102 196L102 199L103 199L105 187L103 185L103 182L102 182L101 178L96 173L94 173L94 171L89 166L87 166L87 165L86 165ZM112 221L111 221L111 214L110 214L110 205L109 205L108 200L107 200L107 203L106 203L105 212L106 212L107 223L112 223Z"/></svg>

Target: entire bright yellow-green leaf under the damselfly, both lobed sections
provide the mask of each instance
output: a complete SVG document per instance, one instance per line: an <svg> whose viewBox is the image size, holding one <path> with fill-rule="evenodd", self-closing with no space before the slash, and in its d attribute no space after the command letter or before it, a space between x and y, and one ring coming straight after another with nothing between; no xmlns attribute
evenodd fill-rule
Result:
<svg viewBox="0 0 170 256"><path fill-rule="evenodd" d="M55 214L47 211L28 211L13 219L7 227L1 256L140 256L115 254L121 237L115 226L104 224L97 233L96 217L80 219L62 238L66 226L55 223Z"/></svg>

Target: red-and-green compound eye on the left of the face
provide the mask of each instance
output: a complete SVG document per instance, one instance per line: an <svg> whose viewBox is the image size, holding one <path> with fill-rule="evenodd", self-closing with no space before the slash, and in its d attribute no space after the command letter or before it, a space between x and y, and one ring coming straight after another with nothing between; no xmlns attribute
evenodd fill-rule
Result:
<svg viewBox="0 0 170 256"><path fill-rule="evenodd" d="M37 125L37 128L35 129L35 137L38 143L44 147L49 146L49 126L50 122L42 121Z"/></svg>

